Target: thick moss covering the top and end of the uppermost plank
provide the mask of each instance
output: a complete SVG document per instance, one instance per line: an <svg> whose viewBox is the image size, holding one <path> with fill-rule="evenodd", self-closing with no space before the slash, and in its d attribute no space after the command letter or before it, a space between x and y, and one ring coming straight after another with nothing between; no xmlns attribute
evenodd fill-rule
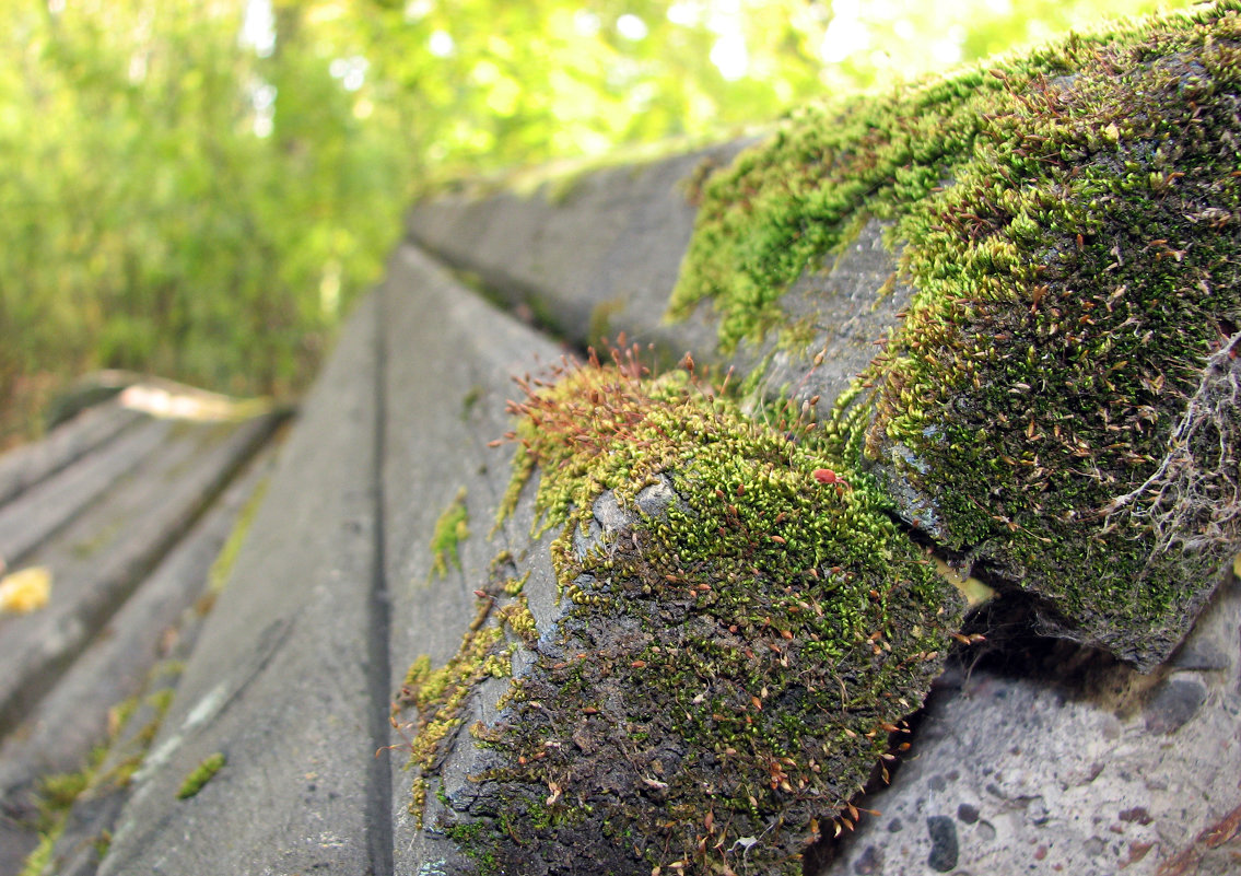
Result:
<svg viewBox="0 0 1241 876"><path fill-rule="evenodd" d="M804 109L706 186L671 309L725 347L869 218L913 304L838 450L1142 668L1241 546L1241 4Z"/></svg>

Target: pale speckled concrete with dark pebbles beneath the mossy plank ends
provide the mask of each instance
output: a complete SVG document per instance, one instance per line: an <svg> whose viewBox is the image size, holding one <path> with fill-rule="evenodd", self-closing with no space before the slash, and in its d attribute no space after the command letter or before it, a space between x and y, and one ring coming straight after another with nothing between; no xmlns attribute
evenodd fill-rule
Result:
<svg viewBox="0 0 1241 876"><path fill-rule="evenodd" d="M859 804L881 815L864 816L819 876L1236 872L1236 842L1204 845L1217 862L1196 871L1160 867L1241 804L1239 628L1234 578L1180 653L1216 655L1211 669L1178 656L1143 676L1061 648L1021 677L970 671L962 655L891 787ZM956 869L943 870L949 833Z"/></svg>

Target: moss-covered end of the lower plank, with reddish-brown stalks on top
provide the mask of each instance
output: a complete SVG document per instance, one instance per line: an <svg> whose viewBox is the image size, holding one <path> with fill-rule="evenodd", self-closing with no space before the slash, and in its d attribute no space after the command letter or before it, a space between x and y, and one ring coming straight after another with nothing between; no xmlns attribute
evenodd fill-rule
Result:
<svg viewBox="0 0 1241 876"><path fill-rule="evenodd" d="M799 874L901 744L963 599L813 427L633 357L517 407L511 498L537 475L565 598L539 638L513 603L444 669L416 665L414 808L468 697L520 666L472 730L490 803L441 825L480 870Z"/></svg>

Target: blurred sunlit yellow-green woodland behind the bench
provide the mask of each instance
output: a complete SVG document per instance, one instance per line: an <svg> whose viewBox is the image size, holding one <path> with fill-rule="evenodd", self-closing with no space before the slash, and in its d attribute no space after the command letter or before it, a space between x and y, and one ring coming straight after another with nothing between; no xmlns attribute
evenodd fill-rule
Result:
<svg viewBox="0 0 1241 876"><path fill-rule="evenodd" d="M295 396L402 210L1174 10L1152 0L0 0L0 448L118 367Z"/></svg>

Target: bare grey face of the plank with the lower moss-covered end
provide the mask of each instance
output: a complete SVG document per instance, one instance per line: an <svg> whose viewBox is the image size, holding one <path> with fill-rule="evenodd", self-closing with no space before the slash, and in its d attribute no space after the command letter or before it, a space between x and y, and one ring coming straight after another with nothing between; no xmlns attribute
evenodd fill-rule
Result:
<svg viewBox="0 0 1241 876"><path fill-rule="evenodd" d="M510 423L505 400L517 393L511 375L534 372L558 357L545 337L501 314L424 254L405 247L392 261L385 288L388 314L383 499L387 581L392 603L391 691L406 669L426 654L443 665L460 645L478 610L475 591L494 588L489 573L501 551L514 555L513 572L527 562L537 571L525 593L546 617L555 578L546 543L531 543L529 503L491 532L496 507L509 483L513 447L489 448ZM437 319L427 319L436 314ZM431 573L432 535L441 514L465 490L468 539L458 545L459 565L448 574ZM490 584L489 584L490 582ZM482 697L485 699L485 697ZM491 697L494 700L494 696ZM405 721L411 716L402 716ZM465 721L468 726L472 720ZM468 789L479 752L464 733L446 768L444 785ZM401 732L392 741L403 742ZM393 872L462 872L455 846L433 830L419 830L410 813L408 752L391 753ZM427 825L438 803L428 795Z"/></svg>

